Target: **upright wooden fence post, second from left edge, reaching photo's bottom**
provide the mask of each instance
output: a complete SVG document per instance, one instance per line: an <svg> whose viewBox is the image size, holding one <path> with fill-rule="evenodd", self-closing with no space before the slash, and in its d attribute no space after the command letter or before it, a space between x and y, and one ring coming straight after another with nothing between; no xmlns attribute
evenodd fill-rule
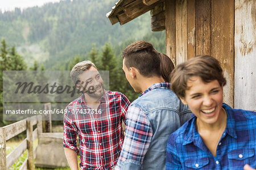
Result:
<svg viewBox="0 0 256 170"><path fill-rule="evenodd" d="M27 160L27 167L30 170L35 169L34 164L34 156L33 156L33 125L32 121L27 119L27 150L28 150L28 160Z"/></svg>

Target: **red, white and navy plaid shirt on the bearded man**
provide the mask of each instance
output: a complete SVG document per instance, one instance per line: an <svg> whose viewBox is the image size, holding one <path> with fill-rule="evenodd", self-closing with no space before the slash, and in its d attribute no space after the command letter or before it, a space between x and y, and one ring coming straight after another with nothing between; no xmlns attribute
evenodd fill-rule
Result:
<svg viewBox="0 0 256 170"><path fill-rule="evenodd" d="M122 120L130 105L119 92L105 91L97 112L88 113L84 94L69 103L64 115L63 146L80 152L80 169L112 169L122 150ZM79 136L80 148L76 146Z"/></svg>

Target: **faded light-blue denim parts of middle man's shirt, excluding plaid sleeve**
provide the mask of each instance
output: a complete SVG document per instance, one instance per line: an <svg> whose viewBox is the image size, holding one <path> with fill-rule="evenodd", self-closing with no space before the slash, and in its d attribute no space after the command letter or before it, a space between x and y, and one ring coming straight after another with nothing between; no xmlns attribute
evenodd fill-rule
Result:
<svg viewBox="0 0 256 170"><path fill-rule="evenodd" d="M131 103L132 107L137 107L139 110L142 110L142 114L146 115L150 122L152 138L146 155L144 155L142 165L140 161L125 157L126 160L122 161L121 169L160 170L166 168L168 138L172 132L177 130L191 117L191 111L181 103L176 94L169 89L169 86L170 84L168 83L154 84ZM129 114L129 111L127 114ZM125 146L125 143L123 146ZM133 150L135 149L139 150L139 148L134 148ZM130 154L127 155L131 155L134 151L129 152ZM119 157L120 159L123 159L122 154L121 158Z"/></svg>

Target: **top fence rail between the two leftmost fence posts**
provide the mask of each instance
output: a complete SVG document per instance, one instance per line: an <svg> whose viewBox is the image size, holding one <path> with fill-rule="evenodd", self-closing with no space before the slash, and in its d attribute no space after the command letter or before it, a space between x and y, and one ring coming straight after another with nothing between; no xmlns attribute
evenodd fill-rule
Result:
<svg viewBox="0 0 256 170"><path fill-rule="evenodd" d="M26 130L26 119L22 121L12 123L11 125L7 125L3 127L5 130L5 139L9 140L14 136L20 134L21 132Z"/></svg>

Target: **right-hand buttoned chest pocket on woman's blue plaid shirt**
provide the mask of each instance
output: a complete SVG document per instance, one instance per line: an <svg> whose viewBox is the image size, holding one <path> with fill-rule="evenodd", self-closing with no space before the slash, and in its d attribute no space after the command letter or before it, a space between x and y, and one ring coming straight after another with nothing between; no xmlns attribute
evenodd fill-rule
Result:
<svg viewBox="0 0 256 170"><path fill-rule="evenodd" d="M240 168L245 164L254 163L254 148L242 148L228 153L229 165L232 168Z"/></svg>

